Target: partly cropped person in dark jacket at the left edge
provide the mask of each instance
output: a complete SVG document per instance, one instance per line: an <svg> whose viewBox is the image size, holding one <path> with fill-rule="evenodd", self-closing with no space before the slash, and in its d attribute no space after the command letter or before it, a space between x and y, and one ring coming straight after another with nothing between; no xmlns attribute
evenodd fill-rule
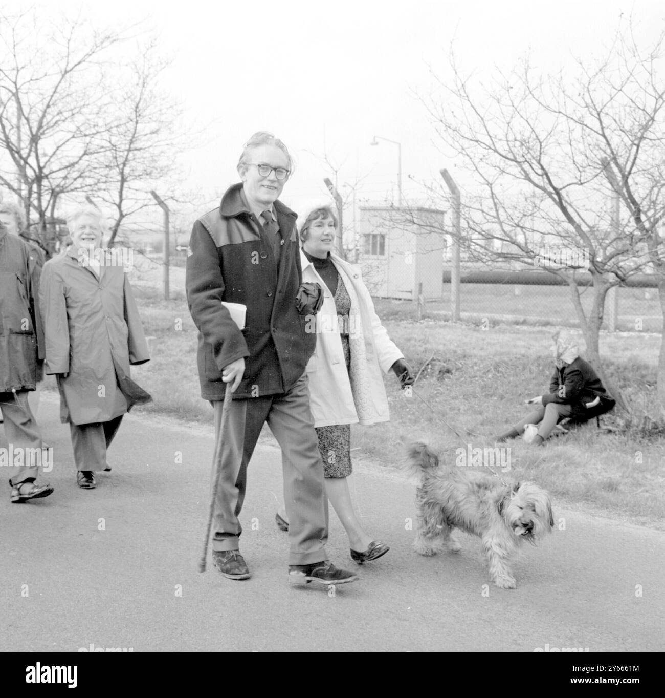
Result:
<svg viewBox="0 0 665 698"><path fill-rule="evenodd" d="M14 503L47 497L53 488L35 483L42 464L42 437L28 404L42 367L43 335L36 297L36 251L0 221L0 412L8 447L0 450Z"/></svg>

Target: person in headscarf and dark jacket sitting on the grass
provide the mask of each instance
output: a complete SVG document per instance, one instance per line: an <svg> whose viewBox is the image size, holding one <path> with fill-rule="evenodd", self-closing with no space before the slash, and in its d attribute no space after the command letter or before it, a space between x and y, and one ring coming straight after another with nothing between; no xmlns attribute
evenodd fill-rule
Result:
<svg viewBox="0 0 665 698"><path fill-rule="evenodd" d="M533 438L536 445L542 445L552 430L565 417L574 422L609 412L616 404L593 368L577 349L577 341L565 330L553 335L556 368L549 384L549 393L527 400L528 405L537 407L505 434L496 437L504 442L523 433L527 424L536 424L537 434Z"/></svg>

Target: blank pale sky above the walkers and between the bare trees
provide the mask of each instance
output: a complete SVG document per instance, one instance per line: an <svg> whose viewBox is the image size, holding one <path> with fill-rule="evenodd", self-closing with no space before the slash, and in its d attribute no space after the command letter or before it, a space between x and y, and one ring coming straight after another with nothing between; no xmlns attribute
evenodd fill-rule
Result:
<svg viewBox="0 0 665 698"><path fill-rule="evenodd" d="M4 3L3 3L4 4ZM13 3L10 2L11 6ZM15 4L15 3L14 3ZM602 51L620 15L633 15L640 36L664 27L662 0L236 0L37 3L63 13L84 8L99 26L146 20L173 57L169 88L185 107L185 128L212 124L204 147L183 154L188 184L212 202L238 181L243 142L273 131L296 158L282 200L299 213L327 198L321 163L337 166L339 185L358 186L358 200L397 200L397 146L407 197L415 180L438 177L446 162L418 95L432 88L429 66L445 75L450 43L466 69L491 75L531 50L556 72L572 55ZM346 190L348 191L348 189Z"/></svg>

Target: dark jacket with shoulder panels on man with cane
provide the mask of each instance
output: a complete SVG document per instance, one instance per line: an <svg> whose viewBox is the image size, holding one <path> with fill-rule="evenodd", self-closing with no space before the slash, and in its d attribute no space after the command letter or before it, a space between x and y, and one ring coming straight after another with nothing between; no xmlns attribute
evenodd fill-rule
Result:
<svg viewBox="0 0 665 698"><path fill-rule="evenodd" d="M305 332L296 309L302 283L296 214L275 201L284 244L277 269L273 241L243 203L242 184L231 186L219 209L194 223L185 286L190 313L199 329L197 364L201 396L221 400L222 369L245 359L245 373L234 397L288 391L305 372L316 334ZM240 332L222 301L247 306Z"/></svg>

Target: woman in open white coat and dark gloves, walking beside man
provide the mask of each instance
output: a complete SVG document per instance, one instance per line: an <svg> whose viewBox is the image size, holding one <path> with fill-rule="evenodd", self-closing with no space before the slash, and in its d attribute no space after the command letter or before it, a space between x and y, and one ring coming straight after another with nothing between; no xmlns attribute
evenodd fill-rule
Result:
<svg viewBox="0 0 665 698"><path fill-rule="evenodd" d="M309 399L326 476L326 493L349 535L351 558L376 560L389 547L362 528L353 507L350 425L387 422L388 397L382 373L390 369L405 385L413 384L411 369L374 312L358 267L337 255L337 219L328 207L314 209L300 230L303 281L323 288L323 305L306 331L316 332L316 351L307 364ZM284 511L277 525L287 530Z"/></svg>

